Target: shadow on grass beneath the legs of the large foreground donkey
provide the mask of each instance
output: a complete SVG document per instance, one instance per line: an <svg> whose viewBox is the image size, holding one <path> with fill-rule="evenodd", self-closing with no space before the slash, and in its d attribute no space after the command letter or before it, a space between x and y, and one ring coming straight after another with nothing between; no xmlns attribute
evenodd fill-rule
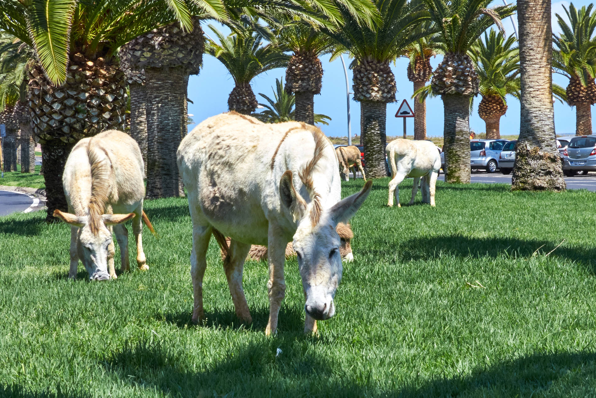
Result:
<svg viewBox="0 0 596 398"><path fill-rule="evenodd" d="M205 321L201 325L195 325L192 318L192 311L180 311L176 313L156 314L155 318L159 321L176 325L178 328L211 328L211 329L240 329L250 328L256 331L265 331L269 322L269 307L252 308L250 315L253 317L253 323L245 325L236 316L234 310L215 310L205 313ZM298 307L289 307L282 305L279 315L280 332L302 332L304 330L304 311Z"/></svg>

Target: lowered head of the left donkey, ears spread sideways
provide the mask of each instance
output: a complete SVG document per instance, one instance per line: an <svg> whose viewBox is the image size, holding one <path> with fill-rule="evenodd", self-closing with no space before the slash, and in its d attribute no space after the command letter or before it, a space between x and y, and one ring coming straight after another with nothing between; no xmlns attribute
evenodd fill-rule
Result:
<svg viewBox="0 0 596 398"><path fill-rule="evenodd" d="M92 220L88 215L75 215L54 210L54 217L58 217L73 227L78 227L76 248L80 261L85 266L91 280L108 280L108 246L112 242L111 231L108 227L122 224L135 217L130 214L103 214L98 220ZM113 254L112 254L113 255Z"/></svg>

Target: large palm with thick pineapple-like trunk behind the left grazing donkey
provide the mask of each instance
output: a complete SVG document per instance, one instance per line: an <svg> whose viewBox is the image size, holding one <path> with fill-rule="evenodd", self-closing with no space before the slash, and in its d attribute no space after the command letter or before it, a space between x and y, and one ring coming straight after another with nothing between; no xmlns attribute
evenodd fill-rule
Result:
<svg viewBox="0 0 596 398"><path fill-rule="evenodd" d="M62 172L76 141L125 127L118 48L172 21L190 29L190 12L171 0L0 0L0 9L0 29L35 49L27 99L42 146L46 220L54 221L54 209L67 209Z"/></svg>

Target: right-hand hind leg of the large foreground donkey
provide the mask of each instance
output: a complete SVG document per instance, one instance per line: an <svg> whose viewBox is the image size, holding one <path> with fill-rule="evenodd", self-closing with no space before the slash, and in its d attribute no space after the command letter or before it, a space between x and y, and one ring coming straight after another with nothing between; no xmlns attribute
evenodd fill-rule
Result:
<svg viewBox="0 0 596 398"><path fill-rule="evenodd" d="M228 279L229 293L232 295L232 301L234 301L236 316L246 324L253 322L242 287L244 261L246 260L246 255L249 254L249 250L250 245L232 239L229 245L228 255L224 258L225 276Z"/></svg>

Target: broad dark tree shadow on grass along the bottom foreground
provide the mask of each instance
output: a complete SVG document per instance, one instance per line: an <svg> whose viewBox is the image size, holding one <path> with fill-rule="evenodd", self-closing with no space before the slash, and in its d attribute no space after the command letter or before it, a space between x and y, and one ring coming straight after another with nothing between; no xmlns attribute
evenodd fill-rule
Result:
<svg viewBox="0 0 596 398"><path fill-rule="evenodd" d="M180 397L301 396L301 397L455 397L529 396L536 392L566 393L596 382L596 354L591 352L532 354L495 365L478 367L470 375L397 385L391 378L374 377L374 369L334 368L316 354L321 341L306 335L275 338L239 346L203 371L185 363L185 347L167 347L155 341L125 343L101 362L108 373L126 383ZM209 350L209 343L201 340ZM328 345L328 343L322 343ZM278 355L278 348L281 353ZM414 374L415 369L411 369Z"/></svg>

